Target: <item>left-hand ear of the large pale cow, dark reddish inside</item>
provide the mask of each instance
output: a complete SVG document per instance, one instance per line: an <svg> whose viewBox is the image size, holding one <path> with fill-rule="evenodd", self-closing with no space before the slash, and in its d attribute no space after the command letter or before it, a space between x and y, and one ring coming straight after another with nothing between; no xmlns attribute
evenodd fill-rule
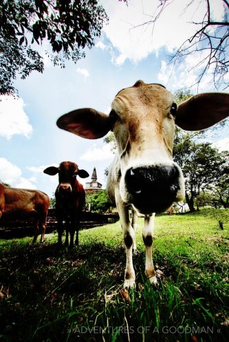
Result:
<svg viewBox="0 0 229 342"><path fill-rule="evenodd" d="M98 139L111 129L109 116L91 108L76 109L58 118L56 125L87 139Z"/></svg>

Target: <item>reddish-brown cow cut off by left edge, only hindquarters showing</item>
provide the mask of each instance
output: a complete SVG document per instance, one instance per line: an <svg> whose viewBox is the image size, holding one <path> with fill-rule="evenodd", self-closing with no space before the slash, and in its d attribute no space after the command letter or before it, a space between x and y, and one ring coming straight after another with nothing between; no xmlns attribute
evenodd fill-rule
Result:
<svg viewBox="0 0 229 342"><path fill-rule="evenodd" d="M47 211L50 197L39 190L12 188L0 184L0 219L26 219L34 217L33 244L41 231L41 242L45 239Z"/></svg>

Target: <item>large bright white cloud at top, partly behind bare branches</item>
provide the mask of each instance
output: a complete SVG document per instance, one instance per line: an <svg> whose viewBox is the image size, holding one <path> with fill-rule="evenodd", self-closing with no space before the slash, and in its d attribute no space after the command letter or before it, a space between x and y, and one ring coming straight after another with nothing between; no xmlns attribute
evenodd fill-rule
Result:
<svg viewBox="0 0 229 342"><path fill-rule="evenodd" d="M192 21L201 21L206 13L205 1L171 1L153 26L149 21L157 6L160 8L160 1L131 0L127 6L123 2L103 0L102 5L109 15L109 25L103 29L107 38L118 56L126 56L132 63L138 63L152 52L157 54L162 47L172 52L198 29ZM222 6L217 3L215 18L221 18L222 13ZM149 23L142 25L147 21ZM116 58L113 61L116 62Z"/></svg>

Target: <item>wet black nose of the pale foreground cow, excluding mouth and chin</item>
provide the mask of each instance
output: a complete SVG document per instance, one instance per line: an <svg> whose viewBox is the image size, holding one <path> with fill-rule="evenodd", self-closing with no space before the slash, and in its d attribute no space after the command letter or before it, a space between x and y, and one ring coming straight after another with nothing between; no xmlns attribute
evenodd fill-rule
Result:
<svg viewBox="0 0 229 342"><path fill-rule="evenodd" d="M153 194L157 200L164 196L173 197L178 190L179 171L173 165L138 167L127 170L127 190L133 197L142 198Z"/></svg>

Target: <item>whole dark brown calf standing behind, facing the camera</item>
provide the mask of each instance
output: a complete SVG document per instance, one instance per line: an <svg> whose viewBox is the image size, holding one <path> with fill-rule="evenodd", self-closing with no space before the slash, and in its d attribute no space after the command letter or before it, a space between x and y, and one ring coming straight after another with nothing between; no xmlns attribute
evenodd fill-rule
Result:
<svg viewBox="0 0 229 342"><path fill-rule="evenodd" d="M59 184L55 192L58 245L61 246L62 244L63 221L66 222L65 246L69 246L68 235L70 235L70 246L74 246L75 231L75 244L78 245L80 216L85 204L85 189L78 182L76 176L87 178L89 173L83 169L78 169L78 165L74 162L61 162L59 167L47 167L43 172L47 173L47 175L56 175L58 173Z"/></svg>

